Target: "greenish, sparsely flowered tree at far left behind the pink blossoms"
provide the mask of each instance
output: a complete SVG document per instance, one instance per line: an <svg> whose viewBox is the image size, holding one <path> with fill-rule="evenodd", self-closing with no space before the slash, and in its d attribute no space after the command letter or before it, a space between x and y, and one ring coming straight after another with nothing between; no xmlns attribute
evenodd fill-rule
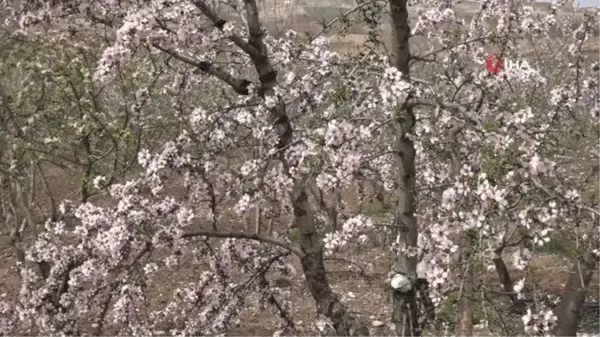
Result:
<svg viewBox="0 0 600 337"><path fill-rule="evenodd" d="M162 74L138 57L119 69L117 85L97 85L92 74L102 41L78 42L82 36L74 31L10 30L6 25L0 32L0 231L23 261L28 234L58 218L63 197L87 202L101 194L135 166L141 144L154 141L155 125L139 112L156 109L148 96ZM56 175L74 178L59 182Z"/></svg>

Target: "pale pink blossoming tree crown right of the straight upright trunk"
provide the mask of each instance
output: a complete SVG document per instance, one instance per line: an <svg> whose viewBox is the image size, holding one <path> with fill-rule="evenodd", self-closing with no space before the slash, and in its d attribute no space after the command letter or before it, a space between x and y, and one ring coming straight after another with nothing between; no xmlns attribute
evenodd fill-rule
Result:
<svg viewBox="0 0 600 337"><path fill-rule="evenodd" d="M442 207L423 207L422 212L431 213L420 218L431 219L434 226L441 226L435 231L442 233L460 231L459 228L476 229L479 254L489 254L484 259L494 262L509 294L514 291L513 284L502 259L507 246L530 238L542 245L551 230L569 226L566 224L588 224L591 230L585 232L588 238L595 231L593 217L597 211L583 205L572 189L572 172L565 171L556 161L568 151L568 132L586 129L581 121L594 125L598 122L598 89L594 79L597 63L585 65L583 53L586 41L596 29L597 12L587 13L577 22L576 15L559 13L563 5L556 3L550 13L538 14L527 2L484 2L468 28L451 9L436 8L424 11L416 24L415 35L421 32L429 37L434 27L447 27L439 30L439 46L432 46L424 55L413 58L415 66L427 63L437 83L446 83L436 86L435 112L419 116L430 123L417 124L416 139L425 140L417 145L423 149L419 159L424 160L417 172L422 172L432 187L443 183L453 185L443 191ZM486 25L490 17L497 18L495 26ZM481 42L466 43L474 40ZM569 46L564 53L558 49L559 61L556 61L557 50L552 49L551 43L555 41ZM533 46L527 48L524 42ZM485 52L490 49L513 60L525 58L532 51L535 57L529 68L511 68L494 75L481 66ZM440 54L437 50L447 52ZM554 58L552 66L550 57ZM566 88L575 92L567 93L570 91ZM441 124L447 125L443 134ZM420 127L423 129L419 130ZM425 136L432 132L434 137ZM597 144L593 137L584 139ZM440 148L445 148L443 151L448 154L446 168L438 166L443 162L438 160L436 164L434 158L428 157L428 154L439 157ZM460 167L458 178L453 167ZM430 203L437 203L438 196L432 193ZM424 193L419 200L427 202ZM439 241L440 236L434 234L432 238ZM446 241L447 235L442 235L441 240ZM592 246L595 240L592 239ZM441 256L444 254L437 258ZM449 273L438 275L445 277ZM469 277L465 275L461 284L465 285L467 280ZM511 295L511 299L522 308L518 294ZM569 306L565 303L570 303L568 291L563 306ZM561 324L571 323L566 323L569 320L560 317L560 312L557 311L557 335L571 336L575 330L561 330ZM531 317L527 315L524 321L527 329L550 329L552 315L538 315L537 321Z"/></svg>

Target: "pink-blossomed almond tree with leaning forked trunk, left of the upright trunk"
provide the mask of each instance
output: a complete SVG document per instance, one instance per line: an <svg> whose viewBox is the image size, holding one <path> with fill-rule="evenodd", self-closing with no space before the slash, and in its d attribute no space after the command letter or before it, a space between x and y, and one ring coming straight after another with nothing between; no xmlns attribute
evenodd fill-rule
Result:
<svg viewBox="0 0 600 337"><path fill-rule="evenodd" d="M181 114L189 128L168 143L162 153L140 155L145 177L113 187L116 208L85 203L72 214L63 214L60 221L48 223L28 260L49 261L52 270L38 275L22 266L24 297L20 318L46 334L77 334L85 329L81 315L86 313L95 322L92 330L96 333L110 329L106 326L110 316L114 317L115 326L128 327L122 330L125 335L153 334L165 329L161 324L173 321L177 327L169 329L171 333L223 333L236 319L245 294L254 290L262 293L263 303L281 316L280 333L287 335L296 330L294 323L264 274L269 268L285 272L288 267L277 262L292 252L301 259L318 311L333 322L335 330L340 335L368 335L327 282L321 240L306 188L302 186L314 175L308 162L316 160L310 156L317 156L313 148L318 145L309 137L311 133L319 136L318 130L306 130L308 135L298 137L303 141L294 141L292 116L288 112L289 107L295 107L292 111L302 118L303 111L314 109L324 99L325 95L307 95L317 88L327 90L323 79L330 75L329 63L335 61L335 55L323 48L324 40L317 39L302 50L289 39L265 37L254 2L245 3L247 34L202 1L130 4L128 8L108 2L92 8L84 8L85 3L81 7L69 3L75 5L69 8L48 5L42 4L41 11L27 12L21 22L34 24L45 18L58 20L51 24L61 24L65 15L69 20L69 15L85 14L92 23L116 29L115 43L104 52L98 67L98 81L109 81L115 68L132 56L133 47L142 44L175 61L165 67L180 74L174 86L186 94L206 84L224 92L222 97L215 97L215 106L197 105L190 109L192 101L185 101L174 107L175 114ZM223 49L219 51L220 48ZM199 50L208 52L197 53ZM231 68L218 66L220 57ZM308 67L307 75L295 78L289 72L287 83L278 85L275 64L285 65L299 58L306 59L301 64ZM249 66L255 68L258 76L244 79L250 76ZM233 90L234 95L228 90ZM215 93L218 90L213 89L211 94ZM246 159L240 150L242 146L255 146L259 151L240 162L240 158ZM231 158L232 153L240 158ZM169 175L184 179L187 193L181 200L163 191ZM147 195L142 193L144 190ZM273 205L279 206L291 215L292 226L300 231L299 246L262 233L219 231L224 199L236 200L234 209L238 213L249 208L269 210L275 208ZM71 219L77 223L73 230L65 228ZM367 223L360 217L348 222L358 229ZM202 226L192 230L202 223L208 224L209 230ZM216 253L207 237L230 240ZM274 248L234 239L271 243ZM62 240L76 243L65 244ZM198 283L179 289L177 293L182 296L174 296L166 307L140 316L136 312L144 301L143 284L148 283L143 280L150 280L158 268L148 259L160 249L169 252L160 261L161 268L173 267L179 255L186 254L188 258L197 255L201 260L211 260L211 271L199 275ZM134 272L141 263L145 264L141 273ZM251 277L241 287L232 287L227 272L230 270L240 270ZM120 295L115 297L116 293ZM97 308L104 309L94 310Z"/></svg>

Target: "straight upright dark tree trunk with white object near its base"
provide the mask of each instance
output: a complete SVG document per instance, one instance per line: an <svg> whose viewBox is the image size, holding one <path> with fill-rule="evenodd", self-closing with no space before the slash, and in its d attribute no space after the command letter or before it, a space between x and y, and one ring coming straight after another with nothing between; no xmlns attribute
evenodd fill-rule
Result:
<svg viewBox="0 0 600 337"><path fill-rule="evenodd" d="M407 0L389 0L392 26L391 65L400 70L409 79L410 26L408 24ZM415 147L408 135L415 125L415 116L409 106L402 107L396 117L396 152L398 169L398 238L403 248L416 248L418 223L416 212L415 188ZM416 280L416 255L399 252L394 264L394 273L401 273ZM406 293L394 291L392 294L392 322L396 325L396 335L414 337L420 335L416 291Z"/></svg>

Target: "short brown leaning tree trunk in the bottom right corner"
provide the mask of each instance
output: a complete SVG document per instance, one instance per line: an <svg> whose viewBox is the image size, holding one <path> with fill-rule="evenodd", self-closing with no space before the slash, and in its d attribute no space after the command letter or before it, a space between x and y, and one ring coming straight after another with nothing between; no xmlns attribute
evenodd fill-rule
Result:
<svg viewBox="0 0 600 337"><path fill-rule="evenodd" d="M555 311L557 324L554 329L554 336L556 337L575 337L577 335L577 326L585 302L585 294L596 268L596 258L593 250L594 245L590 245L573 266L560 303Z"/></svg>

